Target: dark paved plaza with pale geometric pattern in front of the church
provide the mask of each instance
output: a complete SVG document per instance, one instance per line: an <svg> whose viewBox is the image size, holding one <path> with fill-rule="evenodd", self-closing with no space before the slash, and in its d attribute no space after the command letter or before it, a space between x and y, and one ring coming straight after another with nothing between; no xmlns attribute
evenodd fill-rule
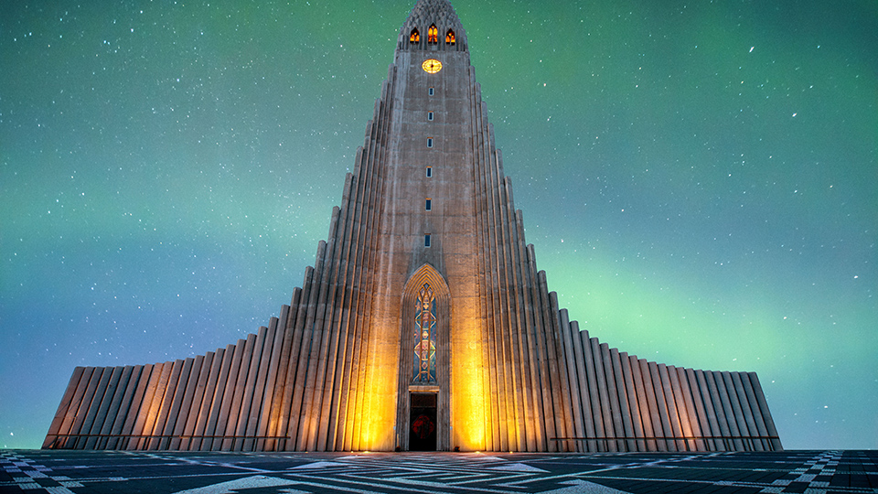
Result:
<svg viewBox="0 0 878 494"><path fill-rule="evenodd" d="M167 453L0 451L0 492L878 493L878 451Z"/></svg>

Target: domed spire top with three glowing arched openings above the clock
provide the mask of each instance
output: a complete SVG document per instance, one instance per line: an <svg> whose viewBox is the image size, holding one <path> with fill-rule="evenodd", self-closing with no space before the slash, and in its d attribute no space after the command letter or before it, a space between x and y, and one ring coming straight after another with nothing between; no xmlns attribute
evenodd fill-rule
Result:
<svg viewBox="0 0 878 494"><path fill-rule="evenodd" d="M398 50L466 51L466 33L448 0L418 0L400 29Z"/></svg>

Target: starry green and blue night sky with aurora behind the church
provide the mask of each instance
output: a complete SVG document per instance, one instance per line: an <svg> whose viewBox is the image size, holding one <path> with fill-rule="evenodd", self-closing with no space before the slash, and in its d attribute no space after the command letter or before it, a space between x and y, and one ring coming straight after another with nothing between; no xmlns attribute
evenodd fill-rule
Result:
<svg viewBox="0 0 878 494"><path fill-rule="evenodd" d="M77 365L268 323L413 0L0 2L0 447ZM878 447L878 3L455 2L561 305L755 370L787 448Z"/></svg>

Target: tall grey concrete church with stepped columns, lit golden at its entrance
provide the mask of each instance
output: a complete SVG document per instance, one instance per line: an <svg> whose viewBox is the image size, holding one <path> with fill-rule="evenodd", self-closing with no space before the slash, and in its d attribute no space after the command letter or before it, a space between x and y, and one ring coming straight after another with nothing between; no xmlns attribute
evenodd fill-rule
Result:
<svg viewBox="0 0 878 494"><path fill-rule="evenodd" d="M197 357L73 371L43 448L776 451L754 372L580 330L525 242L466 30L418 0L301 287Z"/></svg>

